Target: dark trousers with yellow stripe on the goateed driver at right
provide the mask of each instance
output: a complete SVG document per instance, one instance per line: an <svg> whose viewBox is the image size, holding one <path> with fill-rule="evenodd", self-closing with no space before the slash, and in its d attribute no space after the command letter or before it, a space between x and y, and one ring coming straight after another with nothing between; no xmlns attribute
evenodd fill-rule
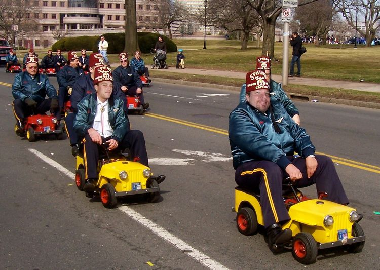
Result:
<svg viewBox="0 0 380 270"><path fill-rule="evenodd" d="M312 177L308 178L305 159L289 157L301 171L303 178L295 182L295 188L316 184L317 194L326 192L324 199L339 204L348 204L346 192L329 157L315 156L318 167ZM260 194L260 204L264 217L264 225L290 219L282 197L282 181L286 175L276 163L271 161L251 161L240 165L235 172L236 183Z"/></svg>

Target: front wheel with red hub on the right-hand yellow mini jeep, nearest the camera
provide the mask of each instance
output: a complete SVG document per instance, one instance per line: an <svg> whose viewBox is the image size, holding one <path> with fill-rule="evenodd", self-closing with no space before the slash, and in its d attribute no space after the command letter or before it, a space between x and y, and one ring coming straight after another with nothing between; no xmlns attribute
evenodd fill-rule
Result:
<svg viewBox="0 0 380 270"><path fill-rule="evenodd" d="M302 264L312 264L317 260L318 248L314 237L309 233L297 234L292 243L293 257Z"/></svg>

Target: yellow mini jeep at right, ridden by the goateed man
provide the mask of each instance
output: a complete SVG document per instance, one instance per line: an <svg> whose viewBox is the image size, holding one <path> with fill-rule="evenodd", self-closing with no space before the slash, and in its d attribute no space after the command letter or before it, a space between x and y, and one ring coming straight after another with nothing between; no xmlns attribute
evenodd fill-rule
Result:
<svg viewBox="0 0 380 270"><path fill-rule="evenodd" d="M365 235L357 223L361 217L354 208L323 200L323 195L320 199L308 199L291 184L287 186L284 203L291 219L282 228L292 230L292 254L298 262L314 263L318 249L343 246L351 253L362 251ZM253 192L236 187L233 211L237 212L236 224L243 235L253 235L258 225L264 225L260 199Z"/></svg>

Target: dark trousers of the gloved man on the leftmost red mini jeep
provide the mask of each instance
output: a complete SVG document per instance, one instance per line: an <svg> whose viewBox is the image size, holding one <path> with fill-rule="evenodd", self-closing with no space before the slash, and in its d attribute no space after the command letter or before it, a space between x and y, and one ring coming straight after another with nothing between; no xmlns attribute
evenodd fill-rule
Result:
<svg viewBox="0 0 380 270"><path fill-rule="evenodd" d="M21 99L15 99L12 102L13 106L13 113L15 115L16 120L23 121L25 117L28 117L32 114L43 114L50 110L50 103L51 99L44 99L43 101L37 103L37 106L32 109L29 107L25 102L23 102ZM54 115L57 118L57 120L61 120L61 114L59 109L54 111Z"/></svg>

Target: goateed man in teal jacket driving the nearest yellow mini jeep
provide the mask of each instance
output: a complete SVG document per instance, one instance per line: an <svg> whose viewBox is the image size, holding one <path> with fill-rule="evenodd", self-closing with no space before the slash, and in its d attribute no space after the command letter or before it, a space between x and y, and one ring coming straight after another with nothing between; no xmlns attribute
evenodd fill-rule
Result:
<svg viewBox="0 0 380 270"><path fill-rule="evenodd" d="M246 84L246 101L230 114L235 181L260 194L272 250L275 244L288 242L292 237L290 229L281 228L290 220L282 197L284 176L290 176L295 188L316 184L318 194L326 192L326 200L344 205L349 200L331 159L314 156L315 147L305 129L291 119L279 100L270 98L265 73L261 70L247 73ZM294 158L294 151L300 157Z"/></svg>

